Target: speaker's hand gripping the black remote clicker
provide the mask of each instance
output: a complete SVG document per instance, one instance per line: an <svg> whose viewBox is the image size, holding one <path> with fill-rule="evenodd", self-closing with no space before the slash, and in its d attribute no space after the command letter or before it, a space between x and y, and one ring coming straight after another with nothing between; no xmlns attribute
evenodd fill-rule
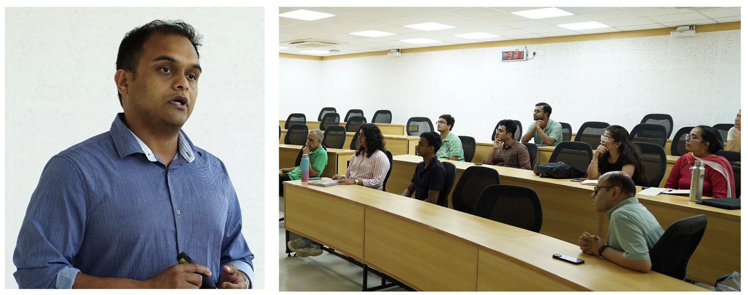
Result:
<svg viewBox="0 0 748 295"><path fill-rule="evenodd" d="M211 276L208 267L200 264L174 264L153 278L143 281L144 288L151 289L199 289L203 276Z"/></svg>

